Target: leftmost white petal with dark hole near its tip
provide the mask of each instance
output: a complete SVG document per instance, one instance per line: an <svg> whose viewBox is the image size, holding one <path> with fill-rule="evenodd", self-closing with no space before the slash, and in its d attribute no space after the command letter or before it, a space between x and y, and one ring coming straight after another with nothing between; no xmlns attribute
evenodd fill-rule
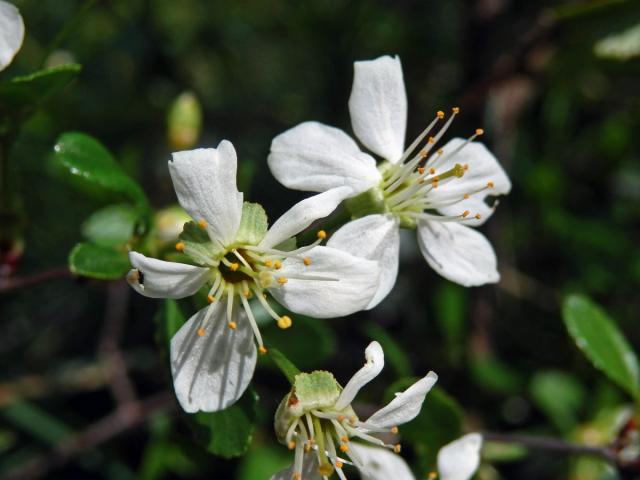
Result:
<svg viewBox="0 0 640 480"><path fill-rule="evenodd" d="M129 252L133 270L127 281L134 290L151 298L184 298L193 295L207 281L208 268L177 262L164 262Z"/></svg>

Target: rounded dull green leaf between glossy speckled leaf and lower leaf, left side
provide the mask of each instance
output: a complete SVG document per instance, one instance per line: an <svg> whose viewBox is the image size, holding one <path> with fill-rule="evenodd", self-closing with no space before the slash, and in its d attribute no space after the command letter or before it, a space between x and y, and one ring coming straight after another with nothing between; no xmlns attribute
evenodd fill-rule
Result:
<svg viewBox="0 0 640 480"><path fill-rule="evenodd" d="M82 224L82 235L105 247L126 245L135 233L138 217L129 205L109 205L91 214Z"/></svg>

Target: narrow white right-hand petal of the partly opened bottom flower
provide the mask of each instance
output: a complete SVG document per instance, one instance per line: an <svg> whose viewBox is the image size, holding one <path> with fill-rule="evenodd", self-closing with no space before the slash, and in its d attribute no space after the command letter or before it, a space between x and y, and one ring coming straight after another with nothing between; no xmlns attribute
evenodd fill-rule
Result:
<svg viewBox="0 0 640 480"><path fill-rule="evenodd" d="M438 376L434 372L427 373L404 392L396 394L386 407L371 415L365 422L365 428L389 428L410 422L420 413L427 393L437 380Z"/></svg>

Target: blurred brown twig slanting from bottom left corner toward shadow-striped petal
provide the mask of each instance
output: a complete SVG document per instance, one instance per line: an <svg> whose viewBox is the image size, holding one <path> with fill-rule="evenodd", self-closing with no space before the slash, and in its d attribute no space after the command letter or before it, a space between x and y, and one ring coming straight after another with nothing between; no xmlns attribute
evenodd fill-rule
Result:
<svg viewBox="0 0 640 480"><path fill-rule="evenodd" d="M115 412L91 424L85 430L70 436L51 452L9 472L6 480L40 478L51 470L60 468L82 453L94 449L114 437L145 423L149 417L174 408L175 401L169 392L129 403Z"/></svg>

